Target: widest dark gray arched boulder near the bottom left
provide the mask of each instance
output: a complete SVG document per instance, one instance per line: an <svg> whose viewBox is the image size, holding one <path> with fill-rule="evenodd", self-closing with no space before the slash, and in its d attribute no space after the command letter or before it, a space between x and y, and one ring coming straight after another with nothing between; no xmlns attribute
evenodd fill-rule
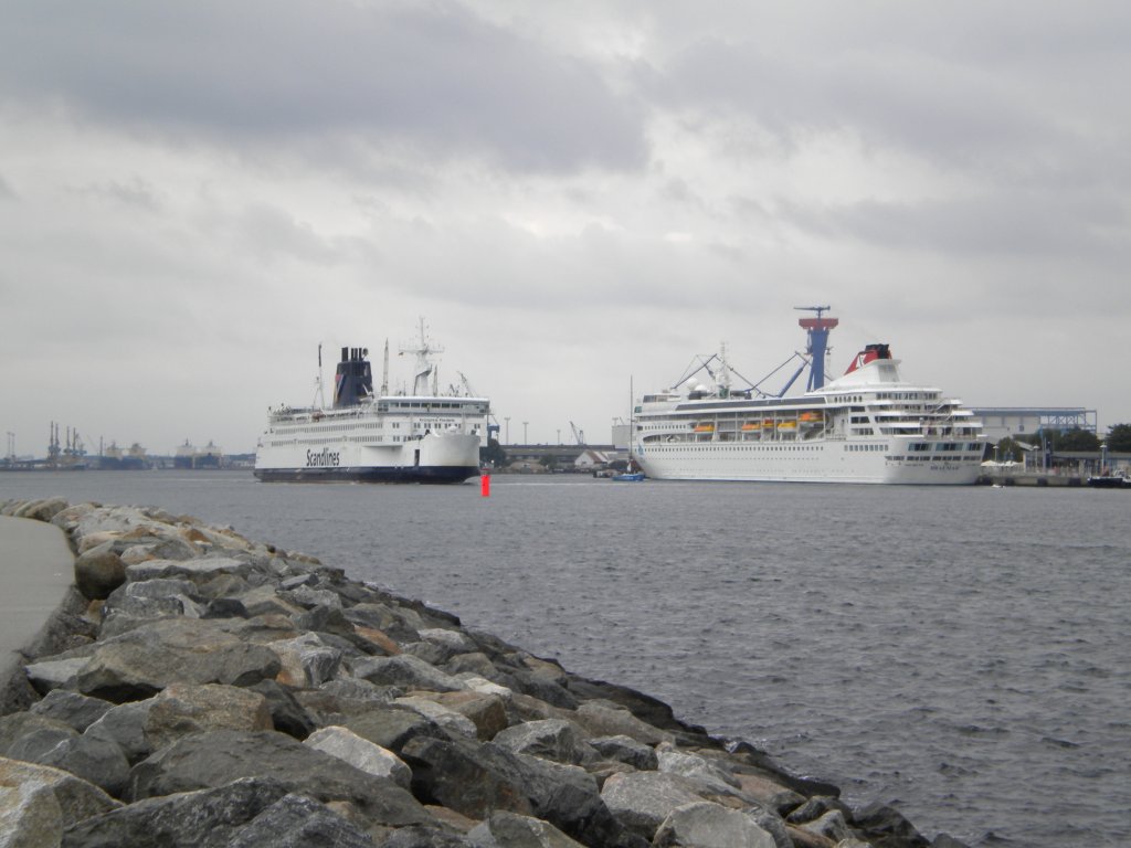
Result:
<svg viewBox="0 0 1131 848"><path fill-rule="evenodd" d="M216 788L270 777L287 791L323 803L348 802L378 824L434 824L408 793L280 733L216 730L184 736L133 767L128 797Z"/></svg>

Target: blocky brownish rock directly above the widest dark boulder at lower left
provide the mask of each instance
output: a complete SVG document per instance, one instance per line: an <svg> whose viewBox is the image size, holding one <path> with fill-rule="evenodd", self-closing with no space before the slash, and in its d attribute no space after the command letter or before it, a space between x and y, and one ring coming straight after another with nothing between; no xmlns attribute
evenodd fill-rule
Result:
<svg viewBox="0 0 1131 848"><path fill-rule="evenodd" d="M267 699L258 692L217 684L172 683L153 698L145 718L150 751L190 733L271 730Z"/></svg>

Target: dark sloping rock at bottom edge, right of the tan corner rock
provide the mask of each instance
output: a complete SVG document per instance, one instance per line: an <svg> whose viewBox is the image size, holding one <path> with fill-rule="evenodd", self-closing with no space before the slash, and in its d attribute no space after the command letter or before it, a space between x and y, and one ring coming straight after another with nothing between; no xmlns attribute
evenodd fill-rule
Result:
<svg viewBox="0 0 1131 848"><path fill-rule="evenodd" d="M147 798L70 827L64 848L222 848L286 796L270 778L244 778L215 789Z"/></svg>

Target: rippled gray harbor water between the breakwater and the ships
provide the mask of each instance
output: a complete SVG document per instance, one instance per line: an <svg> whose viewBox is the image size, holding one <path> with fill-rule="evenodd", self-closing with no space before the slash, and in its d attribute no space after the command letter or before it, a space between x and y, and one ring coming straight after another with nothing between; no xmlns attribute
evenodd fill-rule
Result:
<svg viewBox="0 0 1131 848"><path fill-rule="evenodd" d="M301 550L970 845L1131 843L1131 496L0 474Z"/></svg>

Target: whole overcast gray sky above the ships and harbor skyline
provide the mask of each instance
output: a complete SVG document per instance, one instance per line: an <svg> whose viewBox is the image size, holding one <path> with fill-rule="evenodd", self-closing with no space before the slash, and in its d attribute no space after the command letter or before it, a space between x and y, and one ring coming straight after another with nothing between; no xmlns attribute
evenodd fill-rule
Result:
<svg viewBox="0 0 1131 848"><path fill-rule="evenodd" d="M1131 421L1131 6L0 0L0 430L252 450L423 317L606 441L834 308L973 405ZM394 382L407 377L394 361ZM772 383L772 381L771 381Z"/></svg>

